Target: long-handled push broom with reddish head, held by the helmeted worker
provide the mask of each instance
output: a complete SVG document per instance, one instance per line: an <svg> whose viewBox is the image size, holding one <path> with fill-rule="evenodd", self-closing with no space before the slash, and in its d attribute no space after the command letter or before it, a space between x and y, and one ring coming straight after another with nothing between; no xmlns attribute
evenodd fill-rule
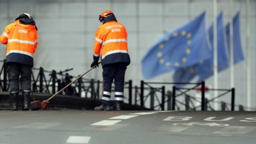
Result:
<svg viewBox="0 0 256 144"><path fill-rule="evenodd" d="M99 62L100 64L100 62ZM81 78L82 76L84 76L84 74L87 74L89 71L93 70L93 68L97 67L97 65L93 66L92 68L90 68L90 70L88 70L87 72L83 73L81 76L77 77L76 79L74 79L72 82L68 83L67 86L65 86L64 88L62 88L61 90L59 90L57 93L55 93L54 95L52 95L49 99L46 100L42 100L42 102L40 102L39 100L36 100L34 102L31 102L31 110L33 110L32 108L38 108L38 106L34 106L34 105L38 105L38 103L40 102L40 107L43 110L46 110L48 108L48 104L50 103L50 100L52 98L54 98L57 94L59 94L60 92L62 92L62 90L66 89L67 87L69 87L72 83L76 82L79 78Z"/></svg>

